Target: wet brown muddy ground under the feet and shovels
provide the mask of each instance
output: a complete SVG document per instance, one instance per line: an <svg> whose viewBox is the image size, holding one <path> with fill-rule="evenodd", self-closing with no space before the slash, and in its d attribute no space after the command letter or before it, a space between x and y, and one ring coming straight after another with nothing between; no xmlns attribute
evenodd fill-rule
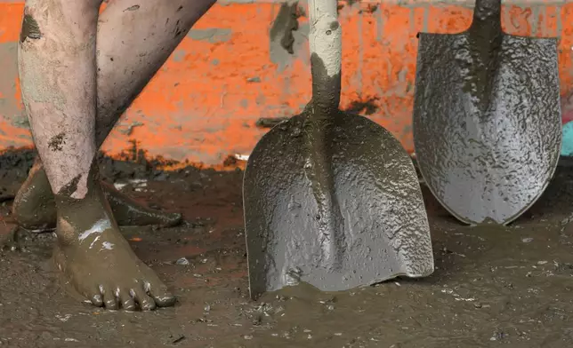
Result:
<svg viewBox="0 0 573 348"><path fill-rule="evenodd" d="M32 158L0 158L4 242L13 226L10 195ZM571 166L561 166L542 199L508 227L460 225L425 190L436 259L429 278L336 294L299 286L252 302L240 170L165 173L152 162L103 162L110 181L127 183L125 192L184 214L176 228L125 228L178 305L109 312L77 303L53 272L52 234L20 233L22 251L0 251L0 346L573 346Z"/></svg>

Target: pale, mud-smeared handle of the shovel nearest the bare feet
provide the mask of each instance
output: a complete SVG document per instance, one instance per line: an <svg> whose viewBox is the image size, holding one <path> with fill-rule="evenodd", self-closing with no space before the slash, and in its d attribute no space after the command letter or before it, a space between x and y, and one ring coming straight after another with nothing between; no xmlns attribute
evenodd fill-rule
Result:
<svg viewBox="0 0 573 348"><path fill-rule="evenodd" d="M343 29L336 0L309 0L312 101L324 111L340 103Z"/></svg>

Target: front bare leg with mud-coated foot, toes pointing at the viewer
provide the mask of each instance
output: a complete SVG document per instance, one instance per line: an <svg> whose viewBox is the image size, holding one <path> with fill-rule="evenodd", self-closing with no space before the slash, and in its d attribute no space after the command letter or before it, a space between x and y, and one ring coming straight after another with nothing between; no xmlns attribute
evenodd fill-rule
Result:
<svg viewBox="0 0 573 348"><path fill-rule="evenodd" d="M57 209L56 265L93 305L133 310L174 297L130 249L95 162L96 34L101 0L27 0L22 99Z"/></svg>

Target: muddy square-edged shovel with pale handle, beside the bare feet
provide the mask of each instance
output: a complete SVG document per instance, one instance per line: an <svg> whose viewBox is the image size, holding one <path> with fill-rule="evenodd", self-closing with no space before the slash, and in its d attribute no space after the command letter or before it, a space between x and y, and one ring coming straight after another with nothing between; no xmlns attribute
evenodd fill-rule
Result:
<svg viewBox="0 0 573 348"><path fill-rule="evenodd" d="M254 147L243 184L251 297L338 291L433 272L416 170L381 126L339 110L336 0L309 2L312 99Z"/></svg>

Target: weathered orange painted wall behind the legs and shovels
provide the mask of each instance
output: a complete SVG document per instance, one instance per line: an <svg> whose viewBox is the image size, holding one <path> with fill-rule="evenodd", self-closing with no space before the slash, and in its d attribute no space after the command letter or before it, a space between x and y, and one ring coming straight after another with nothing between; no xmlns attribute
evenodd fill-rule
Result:
<svg viewBox="0 0 573 348"><path fill-rule="evenodd" d="M569 94L573 4L553 3L505 5L504 30L560 36L561 93ZM103 149L118 154L136 139L149 155L209 165L230 154L248 154L266 131L255 126L260 117L295 115L311 96L308 44L299 43L294 57L282 55L286 66L271 57L269 29L279 8L272 2L214 5L126 112ZM0 149L31 145L15 60L22 10L22 1L0 1ZM471 7L363 1L346 4L340 16L341 107L374 99L376 110L369 117L413 151L416 33L462 31L471 21ZM306 18L299 22L304 27Z"/></svg>

